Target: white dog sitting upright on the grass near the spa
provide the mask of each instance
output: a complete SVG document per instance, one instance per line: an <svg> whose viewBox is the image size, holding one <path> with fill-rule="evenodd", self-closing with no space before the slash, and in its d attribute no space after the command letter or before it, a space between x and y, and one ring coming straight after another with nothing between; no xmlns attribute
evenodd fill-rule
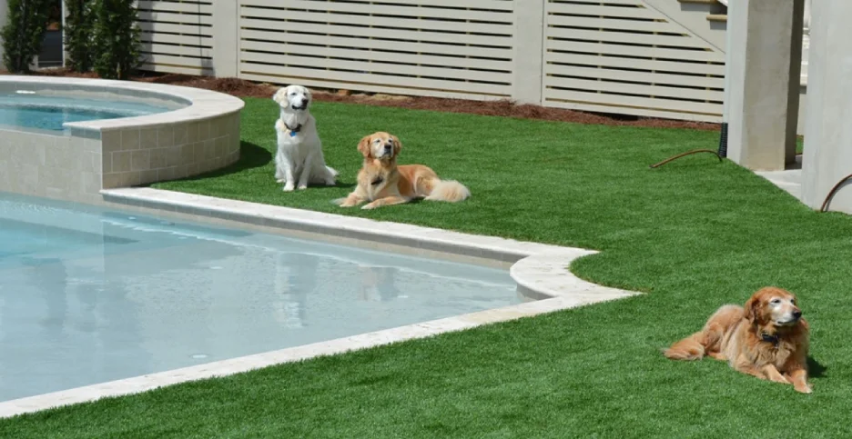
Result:
<svg viewBox="0 0 852 439"><path fill-rule="evenodd" d="M294 187L306 189L308 184L335 185L338 172L325 164L317 121L308 110L310 91L301 85L289 85L280 88L272 100L281 108L279 120L275 122L278 133L276 181L284 184L286 192Z"/></svg>

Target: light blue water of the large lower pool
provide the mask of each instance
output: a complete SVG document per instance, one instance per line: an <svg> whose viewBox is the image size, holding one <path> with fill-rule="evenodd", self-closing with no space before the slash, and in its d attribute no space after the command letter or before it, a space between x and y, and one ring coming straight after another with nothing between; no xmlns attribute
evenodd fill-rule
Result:
<svg viewBox="0 0 852 439"><path fill-rule="evenodd" d="M520 302L503 270L0 193L0 401Z"/></svg>

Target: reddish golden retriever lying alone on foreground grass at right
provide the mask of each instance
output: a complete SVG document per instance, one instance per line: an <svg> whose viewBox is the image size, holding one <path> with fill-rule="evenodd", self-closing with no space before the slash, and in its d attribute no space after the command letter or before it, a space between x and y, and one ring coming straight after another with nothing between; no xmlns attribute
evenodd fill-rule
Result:
<svg viewBox="0 0 852 439"><path fill-rule="evenodd" d="M767 286L752 295L745 308L722 306L704 329L672 344L664 354L673 360L707 355L727 361L739 372L793 384L797 392L809 394L807 322L801 317L796 296Z"/></svg>

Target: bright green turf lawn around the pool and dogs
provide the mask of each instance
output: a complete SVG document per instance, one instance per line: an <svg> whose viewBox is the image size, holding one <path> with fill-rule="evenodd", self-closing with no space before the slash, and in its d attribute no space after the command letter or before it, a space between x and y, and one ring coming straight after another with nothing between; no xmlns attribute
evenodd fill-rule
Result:
<svg viewBox="0 0 852 439"><path fill-rule="evenodd" d="M648 294L0 421L2 437L849 437L852 218L712 155L718 134L358 105L313 107L342 185L284 194L277 115L247 101L243 159L157 187L602 250L572 270ZM345 210L361 135L469 185L462 204ZM660 348L775 284L812 327L814 394Z"/></svg>

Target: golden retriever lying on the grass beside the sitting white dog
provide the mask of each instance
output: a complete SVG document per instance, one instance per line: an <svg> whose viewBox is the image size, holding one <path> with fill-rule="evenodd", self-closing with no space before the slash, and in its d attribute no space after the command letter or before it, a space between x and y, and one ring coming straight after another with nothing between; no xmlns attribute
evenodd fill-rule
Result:
<svg viewBox="0 0 852 439"><path fill-rule="evenodd" d="M375 209L421 197L454 203L471 196L467 187L452 180L441 180L428 166L397 165L401 149L396 135L378 132L362 138L358 151L364 155L364 165L358 173L358 186L349 196L334 200L334 203L352 207L370 202L361 208Z"/></svg>

